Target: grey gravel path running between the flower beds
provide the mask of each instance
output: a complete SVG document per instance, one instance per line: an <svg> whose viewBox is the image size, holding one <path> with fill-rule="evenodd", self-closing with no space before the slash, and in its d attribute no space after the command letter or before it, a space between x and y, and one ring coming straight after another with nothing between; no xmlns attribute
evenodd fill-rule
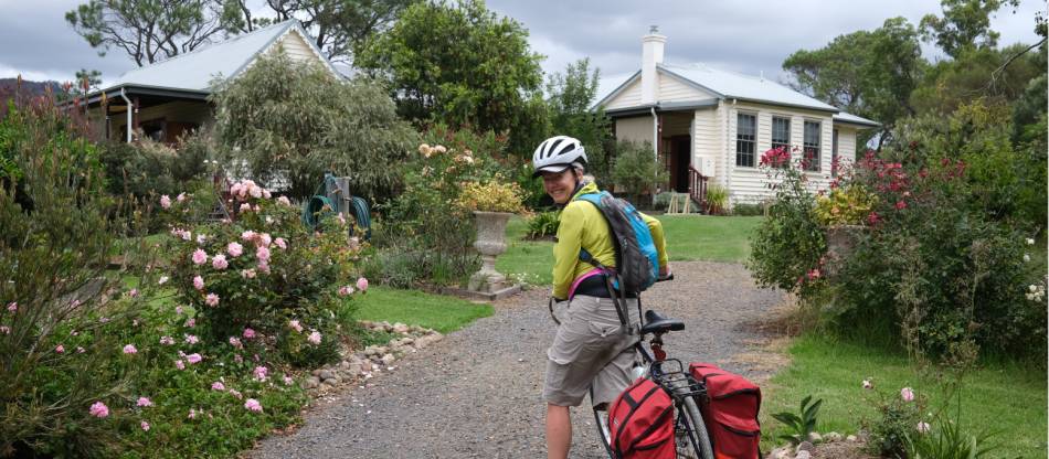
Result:
<svg viewBox="0 0 1049 459"><path fill-rule="evenodd" d="M746 321L783 295L754 287L740 265L675 263L676 280L645 293L646 309L685 321L685 332L664 338L684 362L723 362L757 338ZM253 458L539 458L545 456L541 399L545 350L553 322L547 290L527 291L496 305L492 317L423 351L391 373L317 403L296 433L272 436ZM586 404L572 412L573 458L602 458Z"/></svg>

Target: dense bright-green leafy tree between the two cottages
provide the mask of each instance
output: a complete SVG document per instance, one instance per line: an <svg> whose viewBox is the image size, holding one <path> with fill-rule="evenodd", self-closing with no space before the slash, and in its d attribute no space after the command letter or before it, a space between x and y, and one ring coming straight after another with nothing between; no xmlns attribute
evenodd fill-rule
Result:
<svg viewBox="0 0 1049 459"><path fill-rule="evenodd" d="M542 136L541 58L520 23L464 0L409 7L356 65L388 83L403 117L509 135L523 154Z"/></svg>

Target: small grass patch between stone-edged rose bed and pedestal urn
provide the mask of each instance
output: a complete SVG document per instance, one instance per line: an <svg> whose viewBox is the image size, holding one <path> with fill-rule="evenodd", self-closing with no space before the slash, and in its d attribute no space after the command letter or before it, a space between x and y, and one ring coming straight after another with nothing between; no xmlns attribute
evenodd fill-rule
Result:
<svg viewBox="0 0 1049 459"><path fill-rule="evenodd" d="M417 290L396 290L371 287L364 295L353 296L357 318L360 320L402 322L448 333L468 325L476 319L491 316L491 305Z"/></svg>

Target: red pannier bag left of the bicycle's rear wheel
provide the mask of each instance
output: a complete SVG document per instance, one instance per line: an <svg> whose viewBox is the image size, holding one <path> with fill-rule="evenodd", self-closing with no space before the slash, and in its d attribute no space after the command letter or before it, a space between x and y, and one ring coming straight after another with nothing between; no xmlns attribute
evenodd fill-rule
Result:
<svg viewBox="0 0 1049 459"><path fill-rule="evenodd" d="M612 452L618 459L675 459L674 401L639 377L608 406Z"/></svg>

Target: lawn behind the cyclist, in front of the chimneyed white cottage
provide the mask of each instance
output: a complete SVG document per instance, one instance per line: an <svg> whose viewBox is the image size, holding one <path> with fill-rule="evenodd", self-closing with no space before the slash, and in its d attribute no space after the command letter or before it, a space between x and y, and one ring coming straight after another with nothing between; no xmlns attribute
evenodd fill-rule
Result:
<svg viewBox="0 0 1049 459"><path fill-rule="evenodd" d="M660 215L671 261L743 263L760 216ZM496 269L532 285L550 285L553 243L524 241L528 223L515 216L507 224L507 252Z"/></svg>

